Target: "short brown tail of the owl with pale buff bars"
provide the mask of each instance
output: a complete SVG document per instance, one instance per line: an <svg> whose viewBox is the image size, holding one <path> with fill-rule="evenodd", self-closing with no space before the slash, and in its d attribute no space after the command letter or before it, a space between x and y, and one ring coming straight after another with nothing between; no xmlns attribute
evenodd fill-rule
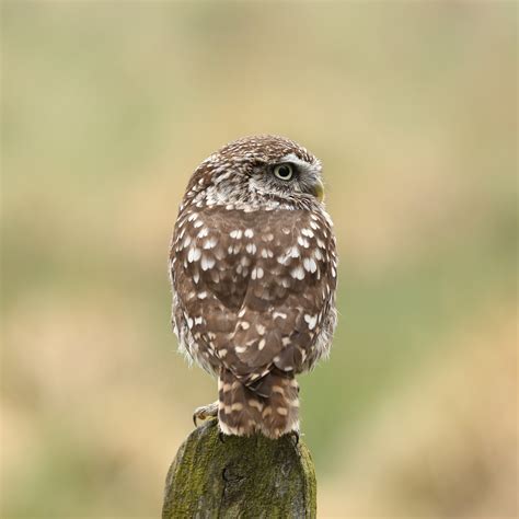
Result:
<svg viewBox="0 0 519 519"><path fill-rule="evenodd" d="M218 420L223 434L250 436L261 431L279 438L299 430L299 387L293 376L269 372L253 385L245 385L222 370L218 389Z"/></svg>

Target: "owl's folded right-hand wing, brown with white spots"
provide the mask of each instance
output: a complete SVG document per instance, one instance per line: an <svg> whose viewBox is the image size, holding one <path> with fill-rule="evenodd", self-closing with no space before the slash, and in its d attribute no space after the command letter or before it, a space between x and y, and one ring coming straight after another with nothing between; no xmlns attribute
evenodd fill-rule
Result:
<svg viewBox="0 0 519 519"><path fill-rule="evenodd" d="M335 289L325 218L286 210L265 220L232 336L243 370L237 374L251 382L275 368L297 373L309 366Z"/></svg>

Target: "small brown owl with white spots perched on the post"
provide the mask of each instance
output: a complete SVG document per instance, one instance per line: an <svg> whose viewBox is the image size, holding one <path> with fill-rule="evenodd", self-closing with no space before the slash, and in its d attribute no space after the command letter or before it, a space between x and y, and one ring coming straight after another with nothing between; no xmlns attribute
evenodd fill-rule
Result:
<svg viewBox="0 0 519 519"><path fill-rule="evenodd" d="M193 173L170 249L180 349L218 379L224 435L299 432L296 376L328 354L337 255L321 162L278 136L245 137Z"/></svg>

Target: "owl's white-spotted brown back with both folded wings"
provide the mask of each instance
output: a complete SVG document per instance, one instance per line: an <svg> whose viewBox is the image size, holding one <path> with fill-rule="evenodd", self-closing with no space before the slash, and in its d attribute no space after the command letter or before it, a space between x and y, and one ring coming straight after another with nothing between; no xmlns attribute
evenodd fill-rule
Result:
<svg viewBox="0 0 519 519"><path fill-rule="evenodd" d="M313 364L336 284L324 215L214 208L175 234L174 285L201 355L247 385Z"/></svg>

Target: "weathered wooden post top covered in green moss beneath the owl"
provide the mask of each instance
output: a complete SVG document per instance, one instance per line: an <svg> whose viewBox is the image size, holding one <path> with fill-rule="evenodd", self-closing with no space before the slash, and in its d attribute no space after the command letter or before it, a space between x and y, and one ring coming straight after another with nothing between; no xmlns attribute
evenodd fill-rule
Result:
<svg viewBox="0 0 519 519"><path fill-rule="evenodd" d="M178 449L165 482L163 519L316 517L315 472L302 441L218 432L211 419Z"/></svg>

